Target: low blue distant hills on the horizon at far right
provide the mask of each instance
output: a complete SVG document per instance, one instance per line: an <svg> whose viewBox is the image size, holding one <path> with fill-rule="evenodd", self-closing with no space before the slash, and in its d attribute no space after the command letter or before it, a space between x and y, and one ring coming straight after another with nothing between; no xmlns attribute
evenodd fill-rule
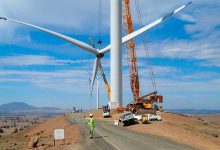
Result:
<svg viewBox="0 0 220 150"><path fill-rule="evenodd" d="M209 109L166 109L168 112L174 112L179 114L219 114L220 110L209 110Z"/></svg>

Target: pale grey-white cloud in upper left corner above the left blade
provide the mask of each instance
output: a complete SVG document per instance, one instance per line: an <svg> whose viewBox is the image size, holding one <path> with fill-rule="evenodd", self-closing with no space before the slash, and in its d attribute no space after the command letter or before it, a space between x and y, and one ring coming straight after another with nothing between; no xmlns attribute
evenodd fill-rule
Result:
<svg viewBox="0 0 220 150"><path fill-rule="evenodd" d="M2 0L1 15L35 24L72 28L72 30L77 28L83 31L82 25L89 29L94 28L88 22L95 23L94 20L97 20L98 2L98 0ZM108 10L106 8L108 2L103 3L105 15Z"/></svg>

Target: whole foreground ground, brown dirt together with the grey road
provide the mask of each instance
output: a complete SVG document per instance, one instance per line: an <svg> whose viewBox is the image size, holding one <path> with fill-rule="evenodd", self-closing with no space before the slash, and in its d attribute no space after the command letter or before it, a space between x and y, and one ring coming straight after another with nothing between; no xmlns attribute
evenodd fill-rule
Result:
<svg viewBox="0 0 220 150"><path fill-rule="evenodd" d="M94 139L89 139L89 127L85 121L89 113L93 113L96 119ZM0 149L220 149L220 124L213 117L208 122L204 116L198 118L163 112L160 113L162 121L122 127L114 125L120 113L113 110L111 114L112 117L103 118L102 110L93 110L86 114L57 116L24 131L1 137ZM64 141L57 141L54 146L54 128L65 129L65 144Z"/></svg>

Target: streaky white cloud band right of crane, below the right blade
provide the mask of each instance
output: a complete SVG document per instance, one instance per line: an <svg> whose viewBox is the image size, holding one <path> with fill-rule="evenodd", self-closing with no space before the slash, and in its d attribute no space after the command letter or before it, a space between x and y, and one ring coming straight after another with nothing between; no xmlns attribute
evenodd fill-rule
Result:
<svg viewBox="0 0 220 150"><path fill-rule="evenodd" d="M196 59L203 60L200 65L220 66L220 32L197 38L197 40L163 40L148 43L152 57L171 59ZM137 47L139 57L145 56L143 45Z"/></svg>

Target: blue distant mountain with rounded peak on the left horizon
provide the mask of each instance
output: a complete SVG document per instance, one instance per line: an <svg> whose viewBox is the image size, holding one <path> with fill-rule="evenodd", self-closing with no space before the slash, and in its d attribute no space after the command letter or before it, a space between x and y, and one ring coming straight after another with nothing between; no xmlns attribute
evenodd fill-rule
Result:
<svg viewBox="0 0 220 150"><path fill-rule="evenodd" d="M40 114L63 114L69 112L69 109L60 109L56 107L35 107L23 102L12 102L0 105L1 115L40 115Z"/></svg>

